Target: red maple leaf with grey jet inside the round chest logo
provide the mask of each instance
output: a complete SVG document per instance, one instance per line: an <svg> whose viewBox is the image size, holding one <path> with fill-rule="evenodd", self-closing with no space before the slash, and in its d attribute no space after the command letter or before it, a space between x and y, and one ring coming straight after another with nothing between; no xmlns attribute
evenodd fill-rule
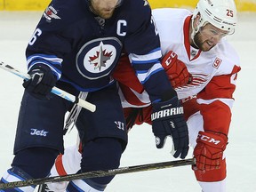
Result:
<svg viewBox="0 0 256 192"><path fill-rule="evenodd" d="M101 42L99 52L96 52L96 55L89 57L89 62L94 66L94 69L99 68L100 70L102 67L106 67L106 62L110 60L112 56L112 52L107 52L106 49L103 50L102 46L103 44Z"/></svg>

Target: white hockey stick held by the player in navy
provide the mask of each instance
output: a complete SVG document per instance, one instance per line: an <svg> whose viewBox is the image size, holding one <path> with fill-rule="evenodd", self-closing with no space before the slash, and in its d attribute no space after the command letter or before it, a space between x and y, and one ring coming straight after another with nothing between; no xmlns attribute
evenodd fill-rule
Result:
<svg viewBox="0 0 256 192"><path fill-rule="evenodd" d="M10 66L10 65L4 64L3 61L0 61L0 68L3 68L4 70L11 72L12 74L14 74L16 76L20 76L21 78L23 78L25 80L30 79L30 76L27 73L22 73L20 70L18 70L16 68L12 68L12 66ZM81 106L82 108L86 108L92 112L94 112L96 110L96 106L93 105L92 103L90 103L86 100L81 100L78 97L76 97L68 92L65 92L57 87L52 88L52 93L60 96L61 98L65 99L65 100L74 102L78 106Z"/></svg>

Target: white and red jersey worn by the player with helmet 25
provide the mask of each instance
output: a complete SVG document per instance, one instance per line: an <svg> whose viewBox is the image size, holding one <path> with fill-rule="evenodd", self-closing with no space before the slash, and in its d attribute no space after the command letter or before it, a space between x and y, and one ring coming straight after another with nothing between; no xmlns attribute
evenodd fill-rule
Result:
<svg viewBox="0 0 256 192"><path fill-rule="evenodd" d="M200 110L205 122L209 123L204 125L204 130L228 134L231 121L230 109L234 102L233 92L236 89L236 74L240 70L236 51L224 38L209 52L193 48L189 44L189 22L192 12L188 10L155 9L153 16L163 55L170 51L175 52L193 76L192 82L175 89L183 102L195 98L196 95L197 103L184 103L185 114L189 111L190 116L191 111L194 113ZM118 68L116 70L118 71ZM129 84L125 84L122 77L120 79L117 76L117 80L126 85L126 87L121 85L120 93L124 108L141 108L150 105L147 92L137 84L136 79L131 76L129 78ZM130 87L130 90L127 87Z"/></svg>

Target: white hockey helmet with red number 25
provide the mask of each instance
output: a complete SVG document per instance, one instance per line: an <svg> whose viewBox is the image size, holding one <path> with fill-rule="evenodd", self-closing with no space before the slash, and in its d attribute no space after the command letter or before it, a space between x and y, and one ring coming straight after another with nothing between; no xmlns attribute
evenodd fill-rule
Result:
<svg viewBox="0 0 256 192"><path fill-rule="evenodd" d="M209 22L216 28L228 31L228 34L235 32L237 18L234 0L199 0L192 20L196 18L198 12L201 19L197 30Z"/></svg>

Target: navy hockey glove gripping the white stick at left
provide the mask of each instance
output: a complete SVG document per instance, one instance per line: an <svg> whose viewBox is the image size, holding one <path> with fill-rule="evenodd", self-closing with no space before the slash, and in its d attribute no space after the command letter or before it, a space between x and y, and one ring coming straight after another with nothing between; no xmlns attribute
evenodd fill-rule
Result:
<svg viewBox="0 0 256 192"><path fill-rule="evenodd" d="M31 68L28 74L31 79L22 84L26 91L40 100L48 98L52 87L57 82L57 77L53 75L51 68L42 64Z"/></svg>

